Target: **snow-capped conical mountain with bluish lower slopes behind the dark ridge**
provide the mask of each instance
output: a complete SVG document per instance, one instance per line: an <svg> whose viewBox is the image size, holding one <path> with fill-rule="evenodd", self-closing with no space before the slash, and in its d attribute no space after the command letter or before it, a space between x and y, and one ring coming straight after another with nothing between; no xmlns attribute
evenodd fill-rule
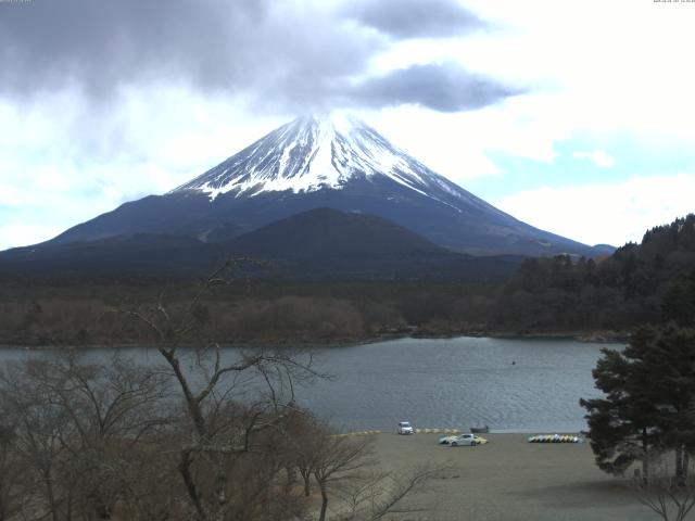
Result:
<svg viewBox="0 0 695 521"><path fill-rule="evenodd" d="M300 117L169 193L126 203L51 242L142 232L226 241L318 207L377 215L472 254L603 253L515 219L340 113Z"/></svg>

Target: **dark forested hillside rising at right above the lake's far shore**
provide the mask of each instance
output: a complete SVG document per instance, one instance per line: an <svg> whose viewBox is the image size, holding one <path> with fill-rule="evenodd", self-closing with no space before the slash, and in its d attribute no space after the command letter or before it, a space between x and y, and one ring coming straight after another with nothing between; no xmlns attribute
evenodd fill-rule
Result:
<svg viewBox="0 0 695 521"><path fill-rule="evenodd" d="M626 329L695 318L695 215L647 231L608 258L533 258L503 285L491 322L503 329Z"/></svg>

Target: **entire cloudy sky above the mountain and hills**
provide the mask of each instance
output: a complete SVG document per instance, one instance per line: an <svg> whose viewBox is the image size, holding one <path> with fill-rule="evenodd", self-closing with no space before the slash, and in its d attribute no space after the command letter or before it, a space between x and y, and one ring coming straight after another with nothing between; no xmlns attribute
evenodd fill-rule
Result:
<svg viewBox="0 0 695 521"><path fill-rule="evenodd" d="M0 250L350 109L533 226L695 212L695 3L0 0Z"/></svg>

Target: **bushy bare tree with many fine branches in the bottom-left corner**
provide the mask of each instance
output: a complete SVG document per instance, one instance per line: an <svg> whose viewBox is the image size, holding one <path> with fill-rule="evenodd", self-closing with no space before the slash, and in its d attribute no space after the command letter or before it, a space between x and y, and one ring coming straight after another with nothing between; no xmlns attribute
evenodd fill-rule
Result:
<svg viewBox="0 0 695 521"><path fill-rule="evenodd" d="M5 367L0 397L14 424L13 457L33 476L27 484L40 484L24 487L33 507L54 521L110 519L124 498L125 461L168 423L165 394L161 372L117 356L89 364L64 352Z"/></svg>

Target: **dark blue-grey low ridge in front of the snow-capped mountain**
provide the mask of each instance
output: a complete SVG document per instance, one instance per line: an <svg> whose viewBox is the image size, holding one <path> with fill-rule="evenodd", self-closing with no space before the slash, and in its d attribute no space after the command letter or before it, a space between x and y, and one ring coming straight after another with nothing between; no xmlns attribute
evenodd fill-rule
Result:
<svg viewBox="0 0 695 521"><path fill-rule="evenodd" d="M277 280L498 281L516 257L445 250L381 217L315 208L229 241L136 233L0 253L0 276L79 278L204 276L229 257L253 260L245 275Z"/></svg>

